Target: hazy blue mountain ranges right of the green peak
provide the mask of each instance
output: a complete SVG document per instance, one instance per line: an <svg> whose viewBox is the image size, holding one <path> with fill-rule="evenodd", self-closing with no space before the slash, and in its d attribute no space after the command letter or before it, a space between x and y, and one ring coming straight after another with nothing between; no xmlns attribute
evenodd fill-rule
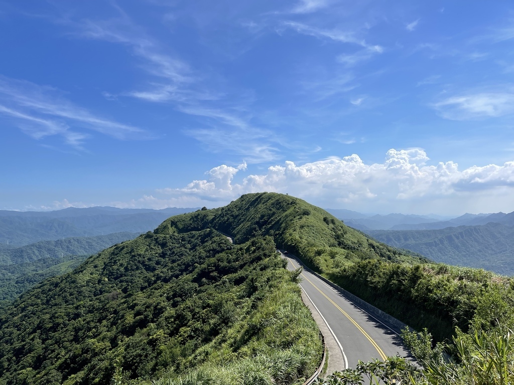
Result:
<svg viewBox="0 0 514 385"><path fill-rule="evenodd" d="M334 214L334 211L328 210ZM380 242L420 253L436 262L479 267L514 275L514 212L464 214L438 220L431 216L364 215L337 217Z"/></svg>

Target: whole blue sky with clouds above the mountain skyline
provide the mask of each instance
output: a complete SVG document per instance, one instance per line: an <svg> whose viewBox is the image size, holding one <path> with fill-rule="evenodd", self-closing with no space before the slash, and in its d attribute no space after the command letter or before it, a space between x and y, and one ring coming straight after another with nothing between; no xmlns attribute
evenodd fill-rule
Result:
<svg viewBox="0 0 514 385"><path fill-rule="evenodd" d="M0 208L514 210L514 5L0 0Z"/></svg>

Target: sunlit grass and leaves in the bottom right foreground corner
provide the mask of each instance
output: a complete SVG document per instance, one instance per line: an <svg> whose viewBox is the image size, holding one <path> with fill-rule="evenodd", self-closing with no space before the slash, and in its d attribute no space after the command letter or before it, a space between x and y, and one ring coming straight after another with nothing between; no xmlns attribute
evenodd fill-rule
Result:
<svg viewBox="0 0 514 385"><path fill-rule="evenodd" d="M408 333L414 343L414 351L423 368L400 357L389 357L386 361L359 362L355 370L348 369L328 376L323 385L350 385L402 383L411 385L509 385L514 383L514 341L511 332L485 333L476 331L472 336L459 334L453 340L455 354L443 354L440 346L428 351L426 337ZM428 340L429 342L429 340ZM417 344L417 346L416 346Z"/></svg>

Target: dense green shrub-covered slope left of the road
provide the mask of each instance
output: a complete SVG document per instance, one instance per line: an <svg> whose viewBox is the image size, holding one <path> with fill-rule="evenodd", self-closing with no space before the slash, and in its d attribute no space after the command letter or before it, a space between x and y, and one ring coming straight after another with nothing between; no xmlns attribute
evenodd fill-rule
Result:
<svg viewBox="0 0 514 385"><path fill-rule="evenodd" d="M302 383L321 341L296 277L271 238L145 234L0 313L0 383Z"/></svg>

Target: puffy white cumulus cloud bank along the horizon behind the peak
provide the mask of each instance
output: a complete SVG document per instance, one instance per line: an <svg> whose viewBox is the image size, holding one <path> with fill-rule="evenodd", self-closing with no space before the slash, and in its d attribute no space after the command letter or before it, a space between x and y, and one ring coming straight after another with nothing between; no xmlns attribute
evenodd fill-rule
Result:
<svg viewBox="0 0 514 385"><path fill-rule="evenodd" d="M420 148L390 149L383 163L365 164L358 155L331 157L304 164L286 161L261 174L250 174L234 181L247 170L220 165L207 171L206 179L194 180L181 188L162 188L128 202L109 204L122 208L179 206L218 207L250 192L280 192L325 207L345 207L368 213L410 212L460 215L476 207L497 212L499 207L514 207L514 161L504 165L472 166L460 170L454 162L427 165L427 153ZM44 209L71 207L67 200ZM86 206L76 203L76 206ZM384 207L387 207L384 210Z"/></svg>

